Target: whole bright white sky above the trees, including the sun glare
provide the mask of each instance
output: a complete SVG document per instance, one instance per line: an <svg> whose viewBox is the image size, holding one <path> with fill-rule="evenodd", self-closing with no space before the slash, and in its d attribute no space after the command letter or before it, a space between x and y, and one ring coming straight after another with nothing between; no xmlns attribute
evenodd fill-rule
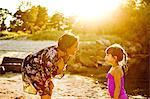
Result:
<svg viewBox="0 0 150 99"><path fill-rule="evenodd" d="M0 8L7 8L15 13L21 1L47 7L48 15L59 11L65 16L76 16L80 20L96 20L109 16L126 0L0 0Z"/></svg>

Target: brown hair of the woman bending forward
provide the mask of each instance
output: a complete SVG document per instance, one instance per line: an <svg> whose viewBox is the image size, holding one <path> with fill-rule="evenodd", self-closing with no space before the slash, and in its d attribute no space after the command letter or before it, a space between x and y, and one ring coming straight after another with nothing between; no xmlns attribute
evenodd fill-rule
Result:
<svg viewBox="0 0 150 99"><path fill-rule="evenodd" d="M78 43L79 38L72 33L67 33L61 36L58 40L58 48L61 51L66 52L67 48L70 48L76 42Z"/></svg>

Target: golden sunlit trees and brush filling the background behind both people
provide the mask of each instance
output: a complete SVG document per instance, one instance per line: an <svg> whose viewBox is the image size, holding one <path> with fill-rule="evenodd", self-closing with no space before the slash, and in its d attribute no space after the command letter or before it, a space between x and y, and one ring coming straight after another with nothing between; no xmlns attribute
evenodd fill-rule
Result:
<svg viewBox="0 0 150 99"><path fill-rule="evenodd" d="M70 59L70 73L92 76L105 81L109 67L104 66L104 50L113 43L123 45L129 57L126 88L130 94L149 95L149 35L150 2L129 0L128 5L118 9L107 20L76 22L76 17L65 17L56 12L48 16L47 8L31 6L22 11L22 2L16 13L0 8L0 39L58 40L65 32L80 37L80 49ZM11 16L10 25L5 21ZM73 68L72 68L73 67ZM103 80L102 80L103 79ZM141 86L142 84L142 86Z"/></svg>

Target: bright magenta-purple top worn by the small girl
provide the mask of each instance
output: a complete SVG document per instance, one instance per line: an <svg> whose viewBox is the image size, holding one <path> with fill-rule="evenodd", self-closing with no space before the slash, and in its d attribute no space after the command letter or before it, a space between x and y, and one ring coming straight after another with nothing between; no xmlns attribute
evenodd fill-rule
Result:
<svg viewBox="0 0 150 99"><path fill-rule="evenodd" d="M115 81L114 77L108 73L107 74L107 86L110 96L114 97L114 91L115 91ZM121 89L120 89L120 95L119 99L128 99L126 91L124 89L124 76L121 77Z"/></svg>

